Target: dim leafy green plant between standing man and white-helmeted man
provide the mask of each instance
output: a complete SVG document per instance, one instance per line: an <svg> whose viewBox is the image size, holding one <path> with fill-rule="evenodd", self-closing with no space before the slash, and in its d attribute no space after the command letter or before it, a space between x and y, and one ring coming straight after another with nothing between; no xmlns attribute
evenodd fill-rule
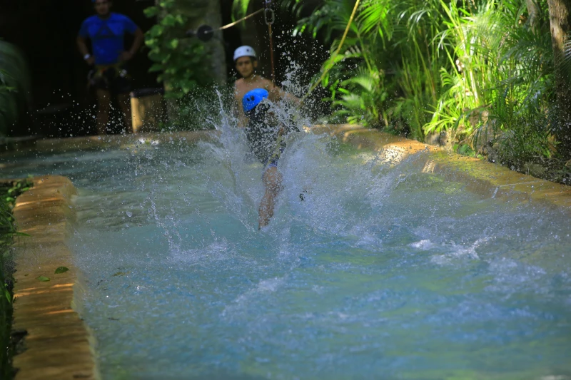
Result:
<svg viewBox="0 0 571 380"><path fill-rule="evenodd" d="M148 57L154 62L151 72L160 72L158 81L165 83L166 98L181 99L198 86L210 83L205 45L196 38L186 38L190 29L188 16L177 9L176 0L163 0L145 10L148 17L158 17L145 35Z"/></svg>

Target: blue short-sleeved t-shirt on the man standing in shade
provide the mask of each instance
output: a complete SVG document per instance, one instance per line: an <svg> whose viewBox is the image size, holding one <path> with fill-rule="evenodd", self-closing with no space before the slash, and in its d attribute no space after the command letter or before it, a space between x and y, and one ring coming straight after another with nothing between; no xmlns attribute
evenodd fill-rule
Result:
<svg viewBox="0 0 571 380"><path fill-rule="evenodd" d="M122 14L111 13L107 19L91 16L81 24L79 36L91 39L91 48L96 65L118 63L119 55L124 51L125 32L133 34L137 30L133 20Z"/></svg>

